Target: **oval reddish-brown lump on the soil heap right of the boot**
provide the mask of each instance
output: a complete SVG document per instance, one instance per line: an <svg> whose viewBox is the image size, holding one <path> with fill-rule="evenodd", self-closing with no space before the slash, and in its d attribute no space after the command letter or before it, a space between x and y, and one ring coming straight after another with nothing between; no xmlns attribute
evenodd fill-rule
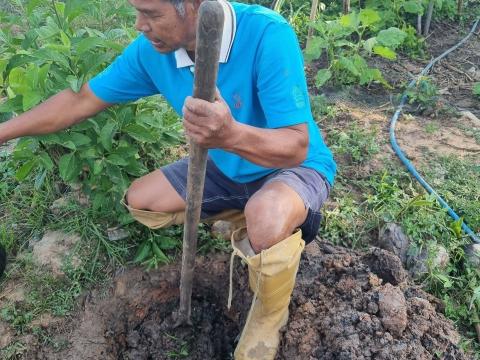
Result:
<svg viewBox="0 0 480 360"><path fill-rule="evenodd" d="M393 336L401 336L407 327L407 303L403 292L391 284L379 291L378 309L382 325Z"/></svg>

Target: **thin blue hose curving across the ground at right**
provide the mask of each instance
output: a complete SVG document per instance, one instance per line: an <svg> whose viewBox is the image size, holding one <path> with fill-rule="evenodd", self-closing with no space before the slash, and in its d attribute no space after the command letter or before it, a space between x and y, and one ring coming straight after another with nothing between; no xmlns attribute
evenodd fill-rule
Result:
<svg viewBox="0 0 480 360"><path fill-rule="evenodd" d="M417 169L413 166L413 164L405 157L405 154L403 153L402 149L400 146L397 144L397 140L395 139L395 125L397 124L398 117L400 116L403 107L405 106L405 103L407 102L407 91L415 86L417 83L417 80L421 77L426 75L432 66L438 62L439 60L443 59L445 56L450 54L452 51L455 51L457 48L459 48L463 43L465 43L475 32L477 29L478 23L480 22L480 18L475 21L473 24L472 30L468 33L467 36L465 36L457 45L451 47L447 51L445 51L443 54L438 56L437 58L433 59L430 61L430 63L422 70L422 72L415 78L413 79L410 84L408 84L406 91L404 92L402 99L400 101L400 105L397 107L397 110L395 111L395 114L393 115L391 121L390 121L390 143L392 144L393 150L395 151L395 154L400 158L402 163L407 167L408 171L420 182L420 184L428 191L429 194L433 194L438 202L447 209L448 214L454 219L454 220L459 220L460 217L453 211L453 209L448 206L447 202L442 199L440 195L437 194L437 192L425 181L425 179L418 173ZM475 243L480 243L480 238L470 229L464 221L462 221L462 229L465 231L471 238L472 241Z"/></svg>

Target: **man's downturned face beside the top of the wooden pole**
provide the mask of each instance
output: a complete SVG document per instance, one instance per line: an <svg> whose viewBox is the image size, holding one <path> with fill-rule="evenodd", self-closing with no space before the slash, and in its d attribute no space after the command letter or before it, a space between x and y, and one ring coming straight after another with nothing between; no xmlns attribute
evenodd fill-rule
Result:
<svg viewBox="0 0 480 360"><path fill-rule="evenodd" d="M136 29L145 34L157 51L195 49L197 1L185 0L184 17L168 0L128 1L137 10Z"/></svg>

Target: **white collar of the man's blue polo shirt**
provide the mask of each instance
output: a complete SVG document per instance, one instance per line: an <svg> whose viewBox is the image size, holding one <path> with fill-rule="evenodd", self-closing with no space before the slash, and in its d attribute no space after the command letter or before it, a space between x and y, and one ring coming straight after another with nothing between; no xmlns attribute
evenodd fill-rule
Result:
<svg viewBox="0 0 480 360"><path fill-rule="evenodd" d="M228 61L228 57L230 56L233 40L235 39L237 19L232 4L226 0L218 0L218 2L222 5L223 14L225 15L219 61L221 63L226 63ZM183 48L175 51L175 60L177 61L177 68L195 65L192 59L190 59L190 56L188 56L187 51Z"/></svg>

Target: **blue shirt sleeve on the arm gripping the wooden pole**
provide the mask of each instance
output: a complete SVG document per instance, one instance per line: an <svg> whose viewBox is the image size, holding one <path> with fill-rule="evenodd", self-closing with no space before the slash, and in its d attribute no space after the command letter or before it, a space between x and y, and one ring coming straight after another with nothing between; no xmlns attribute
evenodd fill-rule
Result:
<svg viewBox="0 0 480 360"><path fill-rule="evenodd" d="M268 128L308 122L312 118L297 37L288 23L265 29L256 57L256 85Z"/></svg>

